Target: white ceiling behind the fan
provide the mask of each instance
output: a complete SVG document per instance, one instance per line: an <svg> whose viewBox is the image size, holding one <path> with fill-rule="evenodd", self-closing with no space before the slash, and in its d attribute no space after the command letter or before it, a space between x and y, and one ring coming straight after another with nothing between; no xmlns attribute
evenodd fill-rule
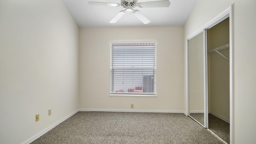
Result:
<svg viewBox="0 0 256 144"><path fill-rule="evenodd" d="M139 8L148 19L148 24L143 24L131 12L126 12L116 23L109 21L124 10L122 6L92 6L88 2L107 2L120 4L121 0L63 0L70 14L80 28L108 28L108 27L161 27L161 26L184 26L188 16L192 12L197 0L169 0L168 8ZM158 0L138 0L150 2Z"/></svg>

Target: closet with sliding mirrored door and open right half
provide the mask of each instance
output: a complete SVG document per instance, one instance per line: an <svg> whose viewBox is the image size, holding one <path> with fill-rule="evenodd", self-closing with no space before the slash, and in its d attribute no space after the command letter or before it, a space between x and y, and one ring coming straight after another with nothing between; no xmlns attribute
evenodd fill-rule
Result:
<svg viewBox="0 0 256 144"><path fill-rule="evenodd" d="M230 16L187 38L188 116L230 143Z"/></svg>

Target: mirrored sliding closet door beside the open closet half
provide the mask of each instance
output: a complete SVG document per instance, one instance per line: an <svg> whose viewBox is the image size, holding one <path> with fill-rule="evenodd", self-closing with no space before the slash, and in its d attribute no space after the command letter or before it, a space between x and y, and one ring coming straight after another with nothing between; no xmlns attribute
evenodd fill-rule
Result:
<svg viewBox="0 0 256 144"><path fill-rule="evenodd" d="M204 31L188 40L189 116L205 124L205 48Z"/></svg>

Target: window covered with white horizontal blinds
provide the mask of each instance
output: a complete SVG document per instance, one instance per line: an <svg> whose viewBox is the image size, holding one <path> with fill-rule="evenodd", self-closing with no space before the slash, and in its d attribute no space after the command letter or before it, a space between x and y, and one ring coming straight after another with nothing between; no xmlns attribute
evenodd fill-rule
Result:
<svg viewBox="0 0 256 144"><path fill-rule="evenodd" d="M156 42L111 43L110 94L156 94Z"/></svg>

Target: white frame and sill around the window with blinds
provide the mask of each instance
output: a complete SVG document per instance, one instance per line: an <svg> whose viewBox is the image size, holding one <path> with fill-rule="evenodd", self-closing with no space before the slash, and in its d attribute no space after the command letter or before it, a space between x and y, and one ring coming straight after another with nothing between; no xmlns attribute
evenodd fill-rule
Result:
<svg viewBox="0 0 256 144"><path fill-rule="evenodd" d="M152 60L154 60L154 66L151 67L151 68L148 68L148 69L152 69L153 70L153 92L141 92L141 93L137 93L137 92L114 92L114 70L117 70L118 68L114 68L113 66L113 63L114 63L114 60L113 60L113 45L116 45L116 44L153 44L153 48L154 48L154 57ZM156 46L157 45L157 42L156 41L128 41L128 42L110 42L110 96L143 96L143 97L156 97ZM131 46L132 47L132 46ZM133 66L132 67L119 67L120 69L125 69L125 70L134 70L136 68L134 68ZM146 67L144 68L144 66L141 67L142 68L142 71L143 69L147 69ZM142 78L142 82L143 82L143 78ZM134 87L135 88L135 87ZM143 89L142 89L143 90Z"/></svg>

